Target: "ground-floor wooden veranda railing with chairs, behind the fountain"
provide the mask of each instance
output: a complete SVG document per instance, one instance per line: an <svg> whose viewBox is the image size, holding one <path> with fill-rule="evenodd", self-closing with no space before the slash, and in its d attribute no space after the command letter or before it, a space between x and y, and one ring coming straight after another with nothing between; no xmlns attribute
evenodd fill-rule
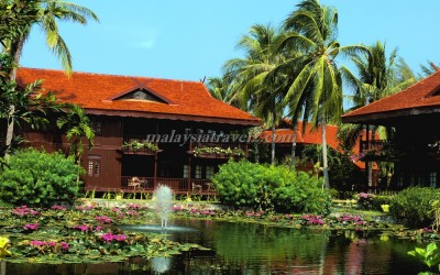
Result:
<svg viewBox="0 0 440 275"><path fill-rule="evenodd" d="M153 191L158 185L165 185L172 188L174 193L200 193L213 194L215 188L210 179L196 179L196 178L165 178L157 177L140 177L140 176L122 176L121 189L129 191Z"/></svg>

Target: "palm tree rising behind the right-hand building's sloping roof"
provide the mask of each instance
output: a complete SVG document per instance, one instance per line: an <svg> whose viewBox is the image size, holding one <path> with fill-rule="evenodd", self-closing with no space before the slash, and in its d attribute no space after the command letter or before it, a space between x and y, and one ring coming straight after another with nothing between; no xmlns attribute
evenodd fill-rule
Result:
<svg viewBox="0 0 440 275"><path fill-rule="evenodd" d="M346 67L342 66L341 68L346 85L354 90L354 95L351 97L354 105L352 110L396 94L416 81L405 61L397 59L397 50L392 51L387 57L384 43L377 41L369 48L369 53L351 58L359 77L355 77ZM374 139L378 129L374 125L370 129L367 125L367 134L370 134L370 130L372 130L372 139ZM361 131L363 131L363 127L360 124L341 128L343 134L340 136L344 140L345 147L353 147ZM372 163L367 162L369 186L372 186Z"/></svg>

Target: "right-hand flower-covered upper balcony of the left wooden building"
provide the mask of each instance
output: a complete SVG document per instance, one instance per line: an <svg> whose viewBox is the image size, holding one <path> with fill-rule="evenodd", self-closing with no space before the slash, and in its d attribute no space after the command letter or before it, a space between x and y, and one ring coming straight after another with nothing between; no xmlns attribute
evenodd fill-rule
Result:
<svg viewBox="0 0 440 275"><path fill-rule="evenodd" d="M200 158L248 157L248 143L191 142L188 154Z"/></svg>

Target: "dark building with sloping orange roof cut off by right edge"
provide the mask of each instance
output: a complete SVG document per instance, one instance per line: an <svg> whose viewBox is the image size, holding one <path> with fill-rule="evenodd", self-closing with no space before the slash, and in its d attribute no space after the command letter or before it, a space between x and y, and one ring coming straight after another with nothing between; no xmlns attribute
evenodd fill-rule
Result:
<svg viewBox="0 0 440 275"><path fill-rule="evenodd" d="M387 140L363 139L361 147L369 161L395 164L394 188L440 186L440 72L342 121L388 128Z"/></svg>

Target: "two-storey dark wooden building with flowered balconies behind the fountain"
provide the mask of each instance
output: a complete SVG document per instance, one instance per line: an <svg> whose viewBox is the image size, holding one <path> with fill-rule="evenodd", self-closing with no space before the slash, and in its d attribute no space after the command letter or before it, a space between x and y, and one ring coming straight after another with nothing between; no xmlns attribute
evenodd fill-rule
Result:
<svg viewBox="0 0 440 275"><path fill-rule="evenodd" d="M213 191L219 164L248 154L251 114L212 98L202 82L21 68L21 87L44 79L45 92L85 109L95 146L85 146L86 190L152 191L168 185L178 194ZM56 131L24 129L24 139L47 152L69 147ZM86 142L85 142L86 143Z"/></svg>

